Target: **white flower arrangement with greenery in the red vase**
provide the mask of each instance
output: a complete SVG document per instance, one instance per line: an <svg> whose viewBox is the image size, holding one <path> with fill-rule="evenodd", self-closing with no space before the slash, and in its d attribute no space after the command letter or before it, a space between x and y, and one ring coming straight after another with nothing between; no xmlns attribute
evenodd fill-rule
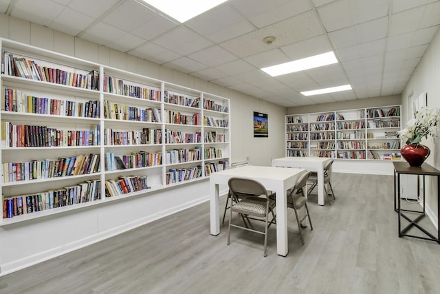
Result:
<svg viewBox="0 0 440 294"><path fill-rule="evenodd" d="M436 136L436 126L439 124L439 116L428 107L421 107L415 114L415 118L408 120L406 128L399 131L402 138L406 138L406 144L421 142L421 138Z"/></svg>

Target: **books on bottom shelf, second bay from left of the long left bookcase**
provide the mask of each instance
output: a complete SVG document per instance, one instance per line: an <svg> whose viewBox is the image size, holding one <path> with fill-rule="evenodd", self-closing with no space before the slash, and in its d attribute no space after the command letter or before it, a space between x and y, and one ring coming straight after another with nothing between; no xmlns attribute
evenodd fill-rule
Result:
<svg viewBox="0 0 440 294"><path fill-rule="evenodd" d="M106 180L105 196L113 197L150 189L146 178L147 176L119 176L117 180Z"/></svg>

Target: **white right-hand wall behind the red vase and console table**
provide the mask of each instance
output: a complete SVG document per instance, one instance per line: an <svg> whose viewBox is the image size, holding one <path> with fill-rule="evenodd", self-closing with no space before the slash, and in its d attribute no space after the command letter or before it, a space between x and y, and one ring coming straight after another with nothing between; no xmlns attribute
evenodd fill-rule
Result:
<svg viewBox="0 0 440 294"><path fill-rule="evenodd" d="M410 81L401 94L403 126L410 118L410 94L417 98L419 94L426 92L428 94L428 106L440 109L440 31L432 38L428 49L426 49L423 58L415 71L412 73ZM431 154L426 162L436 169L440 169L440 127L437 128L437 138L423 139L421 144L430 148ZM430 177L426 177L426 204L428 213L434 225L437 227L437 183Z"/></svg>

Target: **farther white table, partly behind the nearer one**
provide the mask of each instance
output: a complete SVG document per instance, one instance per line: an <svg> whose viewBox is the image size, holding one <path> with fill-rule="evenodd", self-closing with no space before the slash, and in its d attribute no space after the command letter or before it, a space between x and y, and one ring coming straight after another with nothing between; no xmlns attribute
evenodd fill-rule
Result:
<svg viewBox="0 0 440 294"><path fill-rule="evenodd" d="M324 166L332 160L325 157L283 157L272 160L272 167L297 167L307 169L308 171L316 171L318 174L318 204L325 204L324 189ZM331 176L331 167L327 171Z"/></svg>

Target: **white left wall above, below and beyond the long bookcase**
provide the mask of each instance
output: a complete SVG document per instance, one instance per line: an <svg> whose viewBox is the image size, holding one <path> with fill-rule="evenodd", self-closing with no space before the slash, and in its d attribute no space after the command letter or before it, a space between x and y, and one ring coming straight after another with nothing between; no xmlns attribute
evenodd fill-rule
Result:
<svg viewBox="0 0 440 294"><path fill-rule="evenodd" d="M6 14L0 14L0 36L230 98L232 162L270 165L284 155L285 107ZM269 138L253 138L254 111L268 114ZM208 193L208 180L203 180L0 227L0 275L198 204L208 200Z"/></svg>

